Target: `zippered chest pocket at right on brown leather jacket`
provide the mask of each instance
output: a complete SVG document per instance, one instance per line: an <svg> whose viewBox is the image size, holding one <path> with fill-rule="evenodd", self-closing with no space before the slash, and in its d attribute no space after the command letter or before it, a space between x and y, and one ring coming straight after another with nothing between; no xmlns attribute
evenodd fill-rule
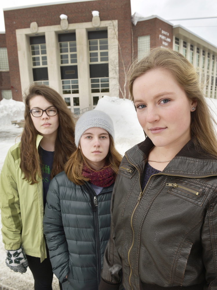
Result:
<svg viewBox="0 0 217 290"><path fill-rule="evenodd" d="M202 206L209 189L187 179L168 179L165 184L168 193L179 196L189 202Z"/></svg>

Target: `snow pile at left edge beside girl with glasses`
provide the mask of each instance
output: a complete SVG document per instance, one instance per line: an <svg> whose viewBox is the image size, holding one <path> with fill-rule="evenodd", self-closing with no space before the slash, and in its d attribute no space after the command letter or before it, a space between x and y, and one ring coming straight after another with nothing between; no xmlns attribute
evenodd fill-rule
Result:
<svg viewBox="0 0 217 290"><path fill-rule="evenodd" d="M2 99L0 102L0 130L11 125L11 121L24 119L25 105L13 99Z"/></svg>

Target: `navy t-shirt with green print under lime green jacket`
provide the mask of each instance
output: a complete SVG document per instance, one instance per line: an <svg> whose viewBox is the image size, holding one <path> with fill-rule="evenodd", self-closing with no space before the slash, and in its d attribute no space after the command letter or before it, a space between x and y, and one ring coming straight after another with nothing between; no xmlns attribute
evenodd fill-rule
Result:
<svg viewBox="0 0 217 290"><path fill-rule="evenodd" d="M44 207L46 205L46 197L50 184L50 173L53 166L53 155L54 151L46 151L43 148L39 148L39 155L41 156L41 174L43 183L43 202Z"/></svg>

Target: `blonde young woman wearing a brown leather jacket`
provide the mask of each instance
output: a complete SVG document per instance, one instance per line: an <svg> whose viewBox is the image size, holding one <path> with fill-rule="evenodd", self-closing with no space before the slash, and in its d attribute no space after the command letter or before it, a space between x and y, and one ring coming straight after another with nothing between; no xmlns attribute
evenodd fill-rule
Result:
<svg viewBox="0 0 217 290"><path fill-rule="evenodd" d="M166 48L131 67L147 138L117 174L100 290L118 289L121 270L127 290L217 289L217 140L198 79Z"/></svg>

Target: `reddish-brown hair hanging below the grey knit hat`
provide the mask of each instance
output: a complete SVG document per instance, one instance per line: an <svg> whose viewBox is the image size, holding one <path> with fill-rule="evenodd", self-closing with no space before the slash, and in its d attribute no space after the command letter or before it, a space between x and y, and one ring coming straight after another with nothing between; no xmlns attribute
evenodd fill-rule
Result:
<svg viewBox="0 0 217 290"><path fill-rule="evenodd" d="M106 156L106 167L111 167L111 169L115 172L117 175L118 168L120 166L122 156L120 153L117 152L114 144L114 140L109 134L110 144L109 144L109 151ZM83 165L86 165L88 168L91 168L86 160L86 157L82 153L82 150L78 148L75 150L74 153L69 157L66 165L65 165L65 173L69 180L74 182L77 185L84 184L85 181L88 181L89 179L87 177L84 177L82 175L82 168ZM101 168L104 169L105 167ZM91 168L92 169L92 168ZM100 170L100 171L101 171Z"/></svg>

